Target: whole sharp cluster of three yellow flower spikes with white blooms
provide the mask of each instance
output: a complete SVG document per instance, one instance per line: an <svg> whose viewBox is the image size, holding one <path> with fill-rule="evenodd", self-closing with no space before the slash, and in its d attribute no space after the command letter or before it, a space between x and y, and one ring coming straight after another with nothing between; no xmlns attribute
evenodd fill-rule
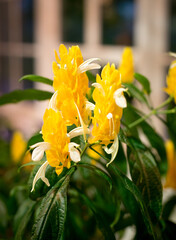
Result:
<svg viewBox="0 0 176 240"><path fill-rule="evenodd" d="M125 91L121 85L121 74L115 65L108 63L102 70L101 77L97 75L93 92L95 104L88 101L89 80L86 71L99 69L95 63L97 58L83 61L78 46L72 46L67 51L62 44L59 47L59 56L55 52L56 61L53 63L55 90L43 117L42 136L44 142L31 146L32 160L39 161L46 152L47 161L39 168L33 180L35 183L41 178L48 186L45 177L48 164L55 167L59 175L63 168L70 168L71 161L81 160L79 145L71 141L72 138L83 135L85 143L86 134L89 134L89 143L99 142L108 154L112 154L111 163L118 151L118 132L122 109L126 107ZM92 116L92 111L94 114ZM92 132L89 129L92 120ZM76 125L67 133L67 126ZM107 145L112 143L108 149ZM108 164L109 164L108 163Z"/></svg>

